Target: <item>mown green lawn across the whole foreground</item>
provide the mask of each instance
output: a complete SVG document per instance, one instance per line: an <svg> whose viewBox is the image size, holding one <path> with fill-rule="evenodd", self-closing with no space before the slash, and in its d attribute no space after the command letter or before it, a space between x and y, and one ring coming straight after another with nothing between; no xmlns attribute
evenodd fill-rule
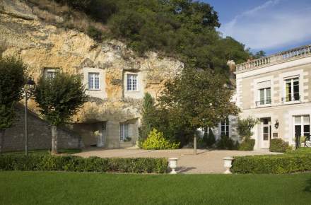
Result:
<svg viewBox="0 0 311 205"><path fill-rule="evenodd" d="M310 204L311 173L0 172L0 204Z"/></svg>

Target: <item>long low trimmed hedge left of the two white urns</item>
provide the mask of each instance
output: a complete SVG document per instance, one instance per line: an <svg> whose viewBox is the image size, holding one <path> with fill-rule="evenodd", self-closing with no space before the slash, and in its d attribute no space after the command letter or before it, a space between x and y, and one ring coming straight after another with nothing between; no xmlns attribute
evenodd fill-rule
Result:
<svg viewBox="0 0 311 205"><path fill-rule="evenodd" d="M168 160L166 158L0 155L0 170L165 173L167 168Z"/></svg>

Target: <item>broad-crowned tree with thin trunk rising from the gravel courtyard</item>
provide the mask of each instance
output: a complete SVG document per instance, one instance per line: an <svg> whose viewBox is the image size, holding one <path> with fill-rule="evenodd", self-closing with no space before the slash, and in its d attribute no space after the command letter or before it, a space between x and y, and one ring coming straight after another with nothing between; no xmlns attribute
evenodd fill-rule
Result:
<svg viewBox="0 0 311 205"><path fill-rule="evenodd" d="M228 115L237 115L239 109L230 102L232 90L225 86L226 78L213 74L211 69L185 68L182 75L165 83L159 98L160 106L172 110L189 124L193 133L201 127L215 127ZM196 134L194 134L196 153Z"/></svg>

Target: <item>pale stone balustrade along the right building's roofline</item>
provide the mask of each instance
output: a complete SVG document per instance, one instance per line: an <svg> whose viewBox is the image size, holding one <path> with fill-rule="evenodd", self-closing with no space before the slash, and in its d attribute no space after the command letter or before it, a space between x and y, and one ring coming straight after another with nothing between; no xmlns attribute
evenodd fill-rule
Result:
<svg viewBox="0 0 311 205"><path fill-rule="evenodd" d="M269 66L272 64L281 63L283 61L288 61L288 59L296 59L299 57L308 57L308 56L311 56L311 45L297 47L285 52L279 52L278 54L274 54L269 57L262 57L260 59L254 59L252 61L247 61L242 64L237 64L236 71L242 72L252 69L258 69L264 66Z"/></svg>

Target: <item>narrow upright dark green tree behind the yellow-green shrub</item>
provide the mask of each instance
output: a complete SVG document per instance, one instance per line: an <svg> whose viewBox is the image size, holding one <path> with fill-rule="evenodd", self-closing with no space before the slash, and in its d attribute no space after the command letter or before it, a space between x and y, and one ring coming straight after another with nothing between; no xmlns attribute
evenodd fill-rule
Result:
<svg viewBox="0 0 311 205"><path fill-rule="evenodd" d="M149 93L145 93L145 96L143 97L141 129L139 133L140 142L143 142L145 139L147 139L148 134L154 128L153 127L154 114L155 114L154 100Z"/></svg>

